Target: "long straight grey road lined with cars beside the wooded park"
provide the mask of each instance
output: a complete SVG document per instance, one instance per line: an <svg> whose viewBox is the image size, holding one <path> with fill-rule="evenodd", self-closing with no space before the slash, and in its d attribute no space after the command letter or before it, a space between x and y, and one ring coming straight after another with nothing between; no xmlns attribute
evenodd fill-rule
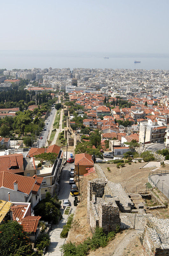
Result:
<svg viewBox="0 0 169 256"><path fill-rule="evenodd" d="M42 148L42 147L45 146L45 144L46 144L47 136L48 136L49 130L50 130L51 126L52 126L53 118L54 118L54 113L55 113L56 111L57 111L57 110L56 110L55 108L52 109L50 116L48 116L48 118L47 118L46 121L45 121L45 126L44 126L44 128L46 128L46 131L44 131L44 129L43 129L42 132L41 132L40 135L39 135L39 138L42 137L43 139L42 139L42 140L41 140L41 139L37 140L37 146L38 146L39 148ZM50 120L50 121L48 121L48 120ZM48 123L48 124L46 124L46 123Z"/></svg>

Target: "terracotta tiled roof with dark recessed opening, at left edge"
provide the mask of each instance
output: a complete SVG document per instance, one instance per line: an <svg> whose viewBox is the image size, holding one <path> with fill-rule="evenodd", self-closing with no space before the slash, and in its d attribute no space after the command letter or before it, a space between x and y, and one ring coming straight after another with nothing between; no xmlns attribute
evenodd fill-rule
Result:
<svg viewBox="0 0 169 256"><path fill-rule="evenodd" d="M23 164L24 163L22 154L0 156L0 172L24 172Z"/></svg>

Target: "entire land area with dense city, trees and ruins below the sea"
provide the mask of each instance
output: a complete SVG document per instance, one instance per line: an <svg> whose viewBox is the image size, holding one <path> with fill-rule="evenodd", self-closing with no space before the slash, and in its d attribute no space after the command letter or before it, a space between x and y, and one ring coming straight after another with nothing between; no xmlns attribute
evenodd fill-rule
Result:
<svg viewBox="0 0 169 256"><path fill-rule="evenodd" d="M168 83L0 69L1 255L168 255Z"/></svg>

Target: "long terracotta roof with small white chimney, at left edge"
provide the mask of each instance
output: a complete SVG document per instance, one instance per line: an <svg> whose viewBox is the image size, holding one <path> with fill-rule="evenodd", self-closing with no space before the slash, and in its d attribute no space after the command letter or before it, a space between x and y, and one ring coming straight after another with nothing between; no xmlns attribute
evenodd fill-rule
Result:
<svg viewBox="0 0 169 256"><path fill-rule="evenodd" d="M14 190L13 183L16 180L18 183L18 192L22 192L29 195L31 191L33 194L37 194L40 188L40 185L42 183L43 177L32 178L32 177L25 177L25 176L10 173L10 172L0 172L0 187Z"/></svg>

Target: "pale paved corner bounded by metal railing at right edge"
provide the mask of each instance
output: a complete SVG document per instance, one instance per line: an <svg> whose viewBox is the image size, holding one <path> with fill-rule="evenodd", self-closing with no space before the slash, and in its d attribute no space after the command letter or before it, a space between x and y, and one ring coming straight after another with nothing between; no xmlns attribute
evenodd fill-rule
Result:
<svg viewBox="0 0 169 256"><path fill-rule="evenodd" d="M167 198L169 197L169 170L153 171L149 173L148 180L157 187ZM158 176L155 176L158 175Z"/></svg>

